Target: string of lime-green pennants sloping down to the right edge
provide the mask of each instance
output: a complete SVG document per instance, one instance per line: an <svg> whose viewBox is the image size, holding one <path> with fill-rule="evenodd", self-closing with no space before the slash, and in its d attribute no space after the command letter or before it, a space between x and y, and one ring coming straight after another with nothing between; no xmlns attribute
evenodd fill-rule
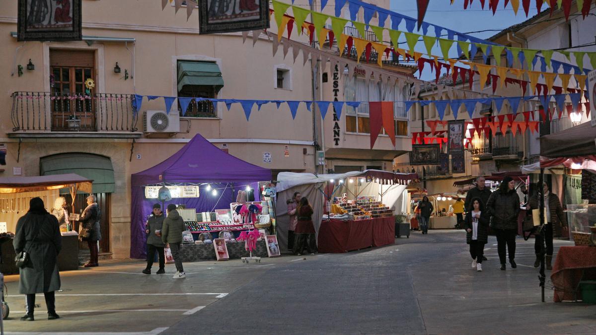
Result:
<svg viewBox="0 0 596 335"><path fill-rule="evenodd" d="M513 48L510 46L502 46L502 45L493 45L489 44L489 42L474 42L469 41L468 39L461 38L458 35L457 41L455 40L456 32L448 32L448 38L440 38L441 31L436 31L436 36L427 36L427 32L424 32L424 35L420 35L417 33L412 32L404 32L398 29L389 29L383 26L373 26L368 24L368 21L365 20L365 23L358 22L356 20L346 20L340 17L333 17L331 15L318 13L316 11L311 11L305 8L301 8L298 6L286 4L284 2L280 2L277 0L272 1L273 10L275 12L275 21L278 27L283 26L283 14L286 14L286 11L291 8L292 13L294 14L294 21L296 21L296 25L298 27L302 27L303 22L305 21L308 14L311 14L313 26L315 27L316 36L321 36L321 32L327 30L327 32L333 32L333 35L337 36L338 42L342 43L339 36L343 35L343 29L346 24L351 23L356 30L358 30L360 36L365 35L365 26L368 29L370 27L373 30L373 33L378 39L377 42L373 42L373 47L375 49L379 48L386 48L383 46L383 32L387 30L390 36L390 42L392 42L393 47L397 48L399 43L399 38L403 34L406 39L406 44L411 52L414 51L415 46L418 42L424 42L424 46L426 46L427 54L433 57L432 48L434 45L438 44L440 46L440 50L442 52L442 57L445 60L451 60L452 58L449 57L449 51L451 50L452 46L455 44L457 46L458 56L459 57L466 57L468 60L474 59L478 52L482 52L482 57L484 63L489 57L489 54L492 54L495 58L496 66L493 65L486 65L488 67L493 67L498 69L501 67L501 56L503 52L505 52L505 59L507 67L514 66L514 59L519 60L520 64L527 63L528 69L533 69L533 67L538 63L538 60L541 60L541 72L547 72L547 67L550 67L553 72L557 72L558 69L563 67L564 73L569 74L571 70L573 70L574 74L581 75L582 73L587 74L589 72L588 69L584 69L584 58L587 56L592 67L596 68L596 52L586 52L586 51L553 51L553 50L539 50L539 49L527 49L527 48ZM351 8L351 7L350 7ZM331 21L331 30L325 29L325 23L327 21ZM379 23L380 24L380 23ZM300 32L299 32L300 33ZM327 34L324 34L327 36ZM324 40L323 40L324 41ZM330 38L330 41L333 41L333 38ZM364 41L364 40L363 40ZM371 43L367 41L367 43ZM345 43L343 43L345 44ZM375 46L378 44L379 46ZM340 51L343 50L343 46L339 45ZM552 60L552 55L554 52L558 52L561 55L564 55L567 60L571 61L570 55L573 54L575 58L577 66L566 64L560 61ZM382 53L382 52L381 52ZM543 57L540 57L538 53L542 54Z"/></svg>

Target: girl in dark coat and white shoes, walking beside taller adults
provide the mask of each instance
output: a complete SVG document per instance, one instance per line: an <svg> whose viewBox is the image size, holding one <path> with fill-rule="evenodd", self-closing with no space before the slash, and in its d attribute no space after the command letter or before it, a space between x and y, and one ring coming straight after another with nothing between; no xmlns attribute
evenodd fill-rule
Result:
<svg viewBox="0 0 596 335"><path fill-rule="evenodd" d="M479 197L471 200L471 208L465 215L464 229L467 232L465 242L470 244L472 268L482 271L482 257L484 246L488 242L488 227L491 217L488 215Z"/></svg>

